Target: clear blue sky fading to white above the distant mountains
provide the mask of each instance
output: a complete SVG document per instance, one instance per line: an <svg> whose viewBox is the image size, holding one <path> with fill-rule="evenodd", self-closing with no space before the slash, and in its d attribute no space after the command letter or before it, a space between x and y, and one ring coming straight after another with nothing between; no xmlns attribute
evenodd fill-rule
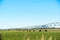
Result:
<svg viewBox="0 0 60 40"><path fill-rule="evenodd" d="M60 0L0 0L0 28L60 22Z"/></svg>

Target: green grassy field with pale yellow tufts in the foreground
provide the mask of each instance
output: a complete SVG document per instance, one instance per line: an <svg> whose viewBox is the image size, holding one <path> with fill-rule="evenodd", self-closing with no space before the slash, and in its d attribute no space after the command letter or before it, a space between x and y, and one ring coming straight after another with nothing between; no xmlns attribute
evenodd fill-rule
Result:
<svg viewBox="0 0 60 40"><path fill-rule="evenodd" d="M1 40L60 40L60 32L0 31Z"/></svg>

